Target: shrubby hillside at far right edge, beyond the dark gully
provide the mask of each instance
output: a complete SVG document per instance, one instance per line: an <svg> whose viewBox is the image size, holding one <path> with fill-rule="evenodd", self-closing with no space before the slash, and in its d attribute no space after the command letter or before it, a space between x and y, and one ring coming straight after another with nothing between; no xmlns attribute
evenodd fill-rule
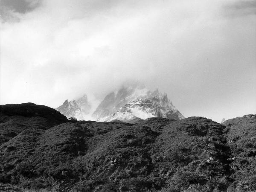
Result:
<svg viewBox="0 0 256 192"><path fill-rule="evenodd" d="M256 191L256 115L229 119L223 125L233 161L230 191Z"/></svg>

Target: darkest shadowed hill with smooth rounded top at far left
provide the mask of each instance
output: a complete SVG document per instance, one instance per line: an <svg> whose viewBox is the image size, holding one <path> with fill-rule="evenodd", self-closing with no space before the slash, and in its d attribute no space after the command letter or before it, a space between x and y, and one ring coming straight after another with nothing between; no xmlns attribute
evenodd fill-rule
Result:
<svg viewBox="0 0 256 192"><path fill-rule="evenodd" d="M0 144L26 129L48 129L68 122L60 112L34 103L0 105Z"/></svg>

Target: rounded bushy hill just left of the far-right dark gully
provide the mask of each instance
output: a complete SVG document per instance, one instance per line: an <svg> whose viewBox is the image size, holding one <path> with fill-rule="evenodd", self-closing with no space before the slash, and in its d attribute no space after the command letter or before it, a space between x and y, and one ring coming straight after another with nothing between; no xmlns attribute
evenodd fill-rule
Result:
<svg viewBox="0 0 256 192"><path fill-rule="evenodd" d="M230 149L224 128L202 117L189 117L163 128L151 150L158 174L166 174L160 177L166 180L163 191L227 190Z"/></svg>

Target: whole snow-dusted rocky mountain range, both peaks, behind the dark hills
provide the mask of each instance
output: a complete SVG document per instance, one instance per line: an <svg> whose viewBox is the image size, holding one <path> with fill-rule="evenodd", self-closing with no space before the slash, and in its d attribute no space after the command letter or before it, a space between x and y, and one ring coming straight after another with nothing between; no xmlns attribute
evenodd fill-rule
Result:
<svg viewBox="0 0 256 192"><path fill-rule="evenodd" d="M91 105L87 96L68 101L56 108L68 118L85 120L90 113ZM160 93L158 89L148 90L143 84L131 83L122 86L119 90L109 93L95 111L93 120L110 122L134 122L150 117L163 117L168 119L184 119L180 111L168 99L167 94Z"/></svg>

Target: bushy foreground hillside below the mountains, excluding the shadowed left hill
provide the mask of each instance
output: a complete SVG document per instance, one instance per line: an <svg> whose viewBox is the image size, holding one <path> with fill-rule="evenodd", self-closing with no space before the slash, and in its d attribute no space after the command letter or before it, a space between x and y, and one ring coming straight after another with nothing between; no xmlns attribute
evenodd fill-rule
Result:
<svg viewBox="0 0 256 192"><path fill-rule="evenodd" d="M9 191L254 191L254 176L245 173L253 169L255 154L237 151L238 139L230 145L232 135L244 137L235 131L238 126L248 132L244 142L256 137L254 117L243 118L227 120L227 127L202 117L28 126L0 145L0 186ZM253 151L251 143L244 148ZM249 155L249 163L236 162L237 154Z"/></svg>

